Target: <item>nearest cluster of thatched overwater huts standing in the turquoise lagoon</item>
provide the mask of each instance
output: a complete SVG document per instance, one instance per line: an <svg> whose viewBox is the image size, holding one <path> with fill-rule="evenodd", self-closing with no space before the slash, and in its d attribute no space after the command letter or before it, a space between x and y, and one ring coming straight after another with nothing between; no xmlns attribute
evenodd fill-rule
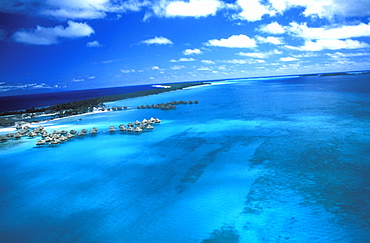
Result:
<svg viewBox="0 0 370 243"><path fill-rule="evenodd" d="M136 120L136 122L128 123L127 125L121 124L118 128L110 126L107 130L109 133L114 133L116 131L139 134L145 131L151 131L154 129L153 124L161 123L161 120L158 118L143 119L142 121ZM0 136L0 141L7 141L9 139L20 139L22 137L41 137L37 142L37 146L50 145L56 146L58 144L67 142L68 140L73 139L74 137L83 137L87 134L96 135L98 133L98 128L93 127L90 131L87 129L82 129L81 131L66 130L58 131L54 130L53 132L47 132L43 126L38 126L31 129L29 126L22 127L20 124L16 126L16 133L8 133L5 136Z"/></svg>

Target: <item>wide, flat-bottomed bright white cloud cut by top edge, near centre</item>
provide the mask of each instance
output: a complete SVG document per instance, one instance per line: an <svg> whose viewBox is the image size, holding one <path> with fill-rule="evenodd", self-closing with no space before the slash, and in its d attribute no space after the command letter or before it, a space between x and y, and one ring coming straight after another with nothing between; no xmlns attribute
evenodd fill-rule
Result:
<svg viewBox="0 0 370 243"><path fill-rule="evenodd" d="M222 6L218 0L190 0L170 2L165 8L166 17L205 17L215 15Z"/></svg>

